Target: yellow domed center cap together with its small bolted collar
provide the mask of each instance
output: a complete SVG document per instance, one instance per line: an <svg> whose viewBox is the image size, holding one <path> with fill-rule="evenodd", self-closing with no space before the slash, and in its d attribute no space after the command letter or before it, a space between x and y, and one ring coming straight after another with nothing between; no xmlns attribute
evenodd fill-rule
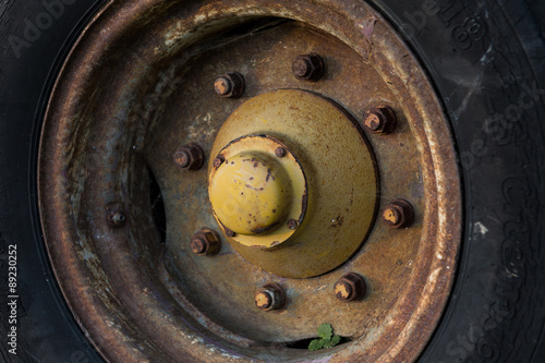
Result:
<svg viewBox="0 0 545 363"><path fill-rule="evenodd" d="M306 211L306 179L280 141L250 135L230 142L209 166L208 195L231 241L268 249L286 242Z"/></svg>

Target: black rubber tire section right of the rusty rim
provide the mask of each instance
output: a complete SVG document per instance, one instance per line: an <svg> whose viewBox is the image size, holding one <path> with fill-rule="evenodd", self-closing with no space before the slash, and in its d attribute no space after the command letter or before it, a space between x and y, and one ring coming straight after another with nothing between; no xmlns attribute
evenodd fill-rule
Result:
<svg viewBox="0 0 545 363"><path fill-rule="evenodd" d="M457 281L421 360L545 362L545 4L426 3L379 4L443 98L464 190Z"/></svg>

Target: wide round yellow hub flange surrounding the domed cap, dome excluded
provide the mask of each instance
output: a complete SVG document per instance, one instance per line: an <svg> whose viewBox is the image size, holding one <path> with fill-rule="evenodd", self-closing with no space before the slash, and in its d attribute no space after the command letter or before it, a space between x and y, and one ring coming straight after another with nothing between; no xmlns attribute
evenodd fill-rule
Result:
<svg viewBox="0 0 545 363"><path fill-rule="evenodd" d="M322 132L308 137L308 129ZM282 223L272 234L259 238L235 235L230 241L241 243L234 243L234 250L254 265L291 278L317 276L344 263L365 240L377 208L375 157L358 122L340 106L314 93L274 90L246 100L229 116L216 136L213 155L225 157L227 164L232 155L245 149L252 153L255 146L251 143L259 138L244 137L247 133L275 135L290 145L286 149L293 149L298 159L289 152L278 162L294 166L300 162L310 172L306 172L304 193L293 196L293 211L287 218L291 226ZM222 148L226 144L229 146ZM271 143L268 154L278 146ZM210 160L210 185L214 185L215 169ZM289 179L299 181L294 190L302 191L302 179L293 173L290 172ZM210 198L216 195L221 195L219 187ZM244 210L243 214L241 218L245 220L252 213ZM337 216L337 222L331 221L331 216ZM295 232L290 227L296 228L298 233L286 242ZM257 243L259 240L265 242ZM278 249L254 249L256 245Z"/></svg>

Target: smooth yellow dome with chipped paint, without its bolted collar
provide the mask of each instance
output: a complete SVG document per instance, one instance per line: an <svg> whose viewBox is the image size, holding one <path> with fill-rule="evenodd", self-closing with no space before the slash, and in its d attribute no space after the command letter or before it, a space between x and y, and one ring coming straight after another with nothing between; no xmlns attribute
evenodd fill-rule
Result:
<svg viewBox="0 0 545 363"><path fill-rule="evenodd" d="M284 221L292 202L291 181L280 162L264 153L227 159L210 181L217 218L231 231L267 233Z"/></svg>

